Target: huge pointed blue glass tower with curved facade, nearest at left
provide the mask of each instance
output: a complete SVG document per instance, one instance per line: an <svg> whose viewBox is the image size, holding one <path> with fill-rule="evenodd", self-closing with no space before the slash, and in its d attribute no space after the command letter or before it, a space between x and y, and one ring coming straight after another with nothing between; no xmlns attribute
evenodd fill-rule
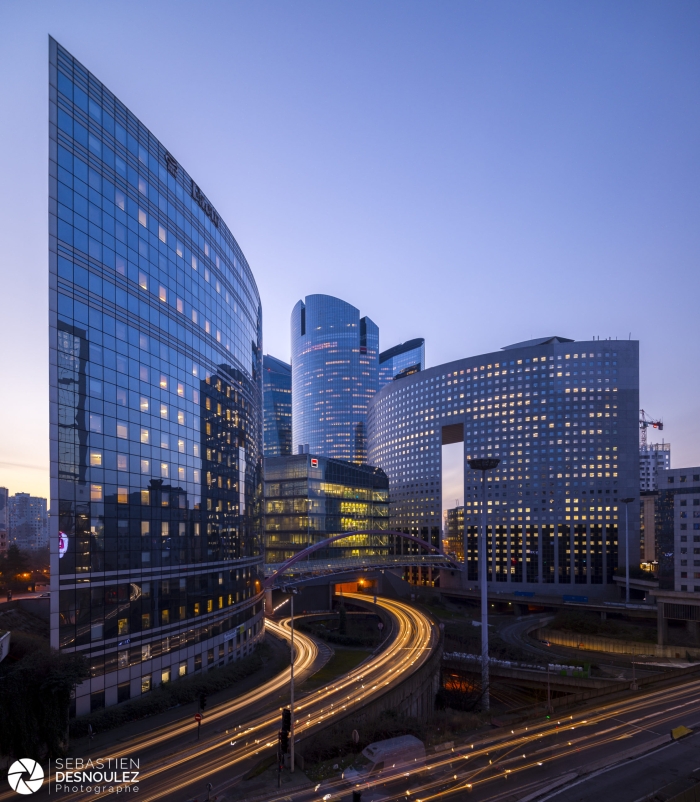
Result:
<svg viewBox="0 0 700 802"><path fill-rule="evenodd" d="M262 312L196 182L53 39L51 643L86 713L262 637Z"/></svg>

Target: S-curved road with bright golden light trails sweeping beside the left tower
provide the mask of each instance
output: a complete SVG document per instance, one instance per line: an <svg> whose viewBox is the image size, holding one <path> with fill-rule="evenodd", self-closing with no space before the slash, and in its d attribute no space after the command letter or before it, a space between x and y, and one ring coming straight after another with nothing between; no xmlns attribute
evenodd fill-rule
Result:
<svg viewBox="0 0 700 802"><path fill-rule="evenodd" d="M358 598L364 601L366 596L345 594L346 598ZM312 691L297 700L295 704L295 729L297 736L305 731L318 727L334 717L341 717L349 710L360 708L368 701L380 696L392 685L416 670L430 656L437 645L439 633L437 627L419 610L406 604L388 599L377 599L392 618L393 639L378 654L357 666L353 671L340 677L331 685ZM276 626L268 622L268 626ZM289 620L280 622L281 631L288 634ZM309 659L313 641L295 632L295 645L308 650L304 659ZM297 657L299 659L299 657ZM288 677L286 683L288 684ZM279 683L276 677L272 683ZM146 733L143 737L130 739L119 744L114 750L105 750L103 757L128 756L140 758L140 777L138 798L142 802L155 800L187 800L202 793L206 782L214 786L213 794L220 794L234 786L240 777L251 767L256 759L276 748L277 730L280 724L280 713L264 712L265 696L279 690L279 684L271 688L272 683L256 689L231 705L236 705L238 718L243 720L235 725L228 725L227 716L232 709L217 711L214 715L218 728L211 727L209 734L200 742L177 743L178 735L189 732L193 735L192 723L182 723L175 728ZM284 683L283 683L284 684ZM245 700L245 701L244 701ZM183 728L182 730L180 728ZM175 741L173 749L165 755L163 746ZM153 759L144 759L144 754L154 747L160 747ZM92 756L93 759L97 755ZM46 796L48 785L45 783L41 792L34 798ZM65 800L94 799L94 791L87 793L61 794ZM11 798L3 794L0 799ZM16 798L16 797L15 797Z"/></svg>

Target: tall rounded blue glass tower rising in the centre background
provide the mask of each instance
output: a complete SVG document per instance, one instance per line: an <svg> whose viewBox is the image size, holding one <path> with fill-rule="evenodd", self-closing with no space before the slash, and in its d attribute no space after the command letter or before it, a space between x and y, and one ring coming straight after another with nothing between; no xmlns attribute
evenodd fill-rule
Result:
<svg viewBox="0 0 700 802"><path fill-rule="evenodd" d="M367 462L379 329L339 298L308 295L292 312L292 449ZM307 448L308 446L308 448Z"/></svg>

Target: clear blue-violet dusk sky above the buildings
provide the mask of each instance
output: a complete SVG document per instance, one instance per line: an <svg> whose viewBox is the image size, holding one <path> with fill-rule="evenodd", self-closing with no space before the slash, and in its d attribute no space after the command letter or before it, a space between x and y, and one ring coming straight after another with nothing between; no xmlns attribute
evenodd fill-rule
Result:
<svg viewBox="0 0 700 802"><path fill-rule="evenodd" d="M48 494L48 34L216 205L266 352L315 292L430 365L631 333L700 463L697 2L3 0L0 485Z"/></svg>

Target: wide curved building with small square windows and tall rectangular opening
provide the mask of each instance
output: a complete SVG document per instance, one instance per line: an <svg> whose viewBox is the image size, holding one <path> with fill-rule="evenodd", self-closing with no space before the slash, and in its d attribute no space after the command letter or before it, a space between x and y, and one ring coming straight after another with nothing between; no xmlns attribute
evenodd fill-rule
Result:
<svg viewBox="0 0 700 802"><path fill-rule="evenodd" d="M478 575L482 492L468 460L497 457L487 475L489 579L614 594L619 500L639 492L638 408L634 340L542 338L390 382L368 425L371 464L389 477L391 528L438 545L442 446L461 442L464 581ZM638 516L630 551L638 564Z"/></svg>

